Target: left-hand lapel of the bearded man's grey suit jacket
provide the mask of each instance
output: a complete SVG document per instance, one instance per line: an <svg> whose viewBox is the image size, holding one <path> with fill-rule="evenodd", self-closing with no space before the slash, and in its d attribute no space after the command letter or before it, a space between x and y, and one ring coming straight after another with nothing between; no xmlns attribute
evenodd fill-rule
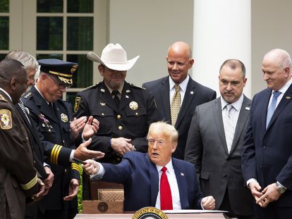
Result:
<svg viewBox="0 0 292 219"><path fill-rule="evenodd" d="M221 145L223 146L226 156L228 156L229 153L228 153L226 139L225 139L224 124L223 124L222 110L221 110L221 97L217 98L214 101L213 115L214 115L214 123L217 127L217 131L219 132Z"/></svg>

